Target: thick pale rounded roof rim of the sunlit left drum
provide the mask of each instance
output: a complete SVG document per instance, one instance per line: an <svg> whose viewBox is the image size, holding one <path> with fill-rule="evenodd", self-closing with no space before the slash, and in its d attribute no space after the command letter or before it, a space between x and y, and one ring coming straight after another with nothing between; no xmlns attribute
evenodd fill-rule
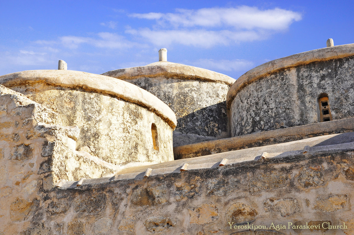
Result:
<svg viewBox="0 0 354 235"><path fill-rule="evenodd" d="M172 129L177 125L175 113L155 95L134 84L109 76L73 70L28 70L0 76L0 84L9 88L30 83L45 83L112 95L147 108L161 117Z"/></svg>

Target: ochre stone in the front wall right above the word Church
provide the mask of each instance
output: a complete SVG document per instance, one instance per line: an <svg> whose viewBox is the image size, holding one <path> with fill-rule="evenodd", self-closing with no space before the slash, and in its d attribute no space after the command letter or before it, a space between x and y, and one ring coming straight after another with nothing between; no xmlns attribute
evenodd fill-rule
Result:
<svg viewBox="0 0 354 235"><path fill-rule="evenodd" d="M316 198L314 209L326 212L333 212L344 208L347 205L348 197L345 194L336 194Z"/></svg>

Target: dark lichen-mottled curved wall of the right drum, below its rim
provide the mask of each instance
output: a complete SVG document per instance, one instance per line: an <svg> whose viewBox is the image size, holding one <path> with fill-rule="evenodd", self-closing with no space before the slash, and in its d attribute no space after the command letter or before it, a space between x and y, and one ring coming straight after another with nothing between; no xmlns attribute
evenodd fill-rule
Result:
<svg viewBox="0 0 354 235"><path fill-rule="evenodd" d="M327 93L333 120L354 117L354 56L274 72L242 88L231 104L231 136L319 122Z"/></svg>

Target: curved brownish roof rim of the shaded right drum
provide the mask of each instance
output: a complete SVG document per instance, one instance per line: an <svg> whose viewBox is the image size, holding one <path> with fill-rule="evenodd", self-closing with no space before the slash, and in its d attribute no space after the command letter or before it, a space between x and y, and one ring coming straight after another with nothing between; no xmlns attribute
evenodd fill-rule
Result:
<svg viewBox="0 0 354 235"><path fill-rule="evenodd" d="M272 74L282 69L297 67L313 62L340 59L351 55L354 55L354 43L302 52L261 64L247 71L231 86L226 96L227 109L230 109L232 101L242 88L268 74Z"/></svg>

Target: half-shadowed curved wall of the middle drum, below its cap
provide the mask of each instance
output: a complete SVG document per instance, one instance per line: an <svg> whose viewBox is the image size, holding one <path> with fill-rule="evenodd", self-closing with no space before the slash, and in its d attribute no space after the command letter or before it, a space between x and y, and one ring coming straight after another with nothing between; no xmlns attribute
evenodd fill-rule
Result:
<svg viewBox="0 0 354 235"><path fill-rule="evenodd" d="M167 76L124 81L154 94L175 112L173 146L228 137L225 100L229 85Z"/></svg>

